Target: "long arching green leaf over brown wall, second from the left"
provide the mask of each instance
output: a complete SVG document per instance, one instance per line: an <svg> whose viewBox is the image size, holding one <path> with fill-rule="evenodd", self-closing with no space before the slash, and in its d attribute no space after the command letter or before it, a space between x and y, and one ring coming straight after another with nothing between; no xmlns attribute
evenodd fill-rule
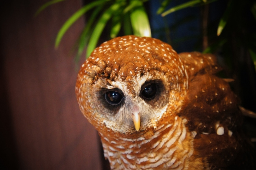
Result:
<svg viewBox="0 0 256 170"><path fill-rule="evenodd" d="M80 18L84 13L86 13L87 11L89 11L90 9L92 9L95 6L99 6L105 2L107 2L108 0L97 0L94 2L91 2L90 4L82 7L81 9L79 9L78 11L76 11L61 27L61 29L58 32L58 35L56 37L55 40L55 48L58 48L59 46L59 42L61 41L63 35L66 33L66 31L70 28L70 26L76 21L78 20L78 18Z"/></svg>

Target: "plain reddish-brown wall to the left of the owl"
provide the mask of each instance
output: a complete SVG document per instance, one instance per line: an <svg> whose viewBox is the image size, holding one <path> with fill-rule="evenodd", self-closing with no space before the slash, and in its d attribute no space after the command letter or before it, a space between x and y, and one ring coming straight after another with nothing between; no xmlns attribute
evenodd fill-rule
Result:
<svg viewBox="0 0 256 170"><path fill-rule="evenodd" d="M54 49L59 28L82 2L60 2L33 18L47 1L11 0L0 5L0 168L99 170L98 136L80 112L74 93L78 68L71 49L83 18Z"/></svg>

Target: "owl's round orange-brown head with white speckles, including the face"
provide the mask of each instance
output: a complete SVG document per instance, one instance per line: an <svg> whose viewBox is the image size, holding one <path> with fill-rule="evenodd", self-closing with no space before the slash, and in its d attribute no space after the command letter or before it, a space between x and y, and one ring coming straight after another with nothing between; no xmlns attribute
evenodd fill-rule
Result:
<svg viewBox="0 0 256 170"><path fill-rule="evenodd" d="M155 128L163 116L180 111L187 79L184 63L169 44L117 37L83 63L76 95L82 113L99 132L134 133Z"/></svg>

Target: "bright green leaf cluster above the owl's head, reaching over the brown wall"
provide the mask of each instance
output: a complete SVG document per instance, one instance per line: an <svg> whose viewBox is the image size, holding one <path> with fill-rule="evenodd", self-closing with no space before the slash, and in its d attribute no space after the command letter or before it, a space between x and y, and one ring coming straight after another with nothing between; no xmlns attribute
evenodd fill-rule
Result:
<svg viewBox="0 0 256 170"><path fill-rule="evenodd" d="M36 15L46 7L63 0L52 0L38 9ZM86 23L78 39L78 56L80 56L87 46L86 56L89 57L96 47L98 39L102 34L107 22L111 20L112 28L110 37L114 38L124 25L125 34L134 34L137 36L151 37L151 30L148 15L143 3L147 0L96 0L76 11L61 27L55 41L55 47L58 48L63 35L70 26L89 10L93 10L91 17ZM132 31L131 31L132 30Z"/></svg>

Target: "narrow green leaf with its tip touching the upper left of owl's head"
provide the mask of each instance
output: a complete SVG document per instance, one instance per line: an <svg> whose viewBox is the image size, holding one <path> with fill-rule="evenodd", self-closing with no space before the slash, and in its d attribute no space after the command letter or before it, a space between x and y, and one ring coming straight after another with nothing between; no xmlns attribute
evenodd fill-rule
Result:
<svg viewBox="0 0 256 170"><path fill-rule="evenodd" d="M87 51L86 51L86 56L89 57L91 55L91 52L95 49L98 39L100 38L100 35L106 26L106 23L108 20L111 18L113 12L117 11L120 7L120 4L116 3L113 4L109 9L107 9L100 19L98 20L98 23L95 26L95 29L93 30L93 33L91 35L91 38L89 40L88 46L87 46Z"/></svg>

